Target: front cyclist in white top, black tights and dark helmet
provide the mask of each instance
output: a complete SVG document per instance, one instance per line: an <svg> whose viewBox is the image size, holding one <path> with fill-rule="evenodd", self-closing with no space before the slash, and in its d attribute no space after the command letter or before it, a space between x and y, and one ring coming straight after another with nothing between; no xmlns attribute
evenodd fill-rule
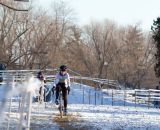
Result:
<svg viewBox="0 0 160 130"><path fill-rule="evenodd" d="M67 113L67 94L70 92L70 76L67 73L67 67L61 65L59 67L59 72L55 76L55 89L56 89L56 105L59 104L59 92L62 90L62 97L64 100L64 113ZM68 93L67 93L68 92Z"/></svg>

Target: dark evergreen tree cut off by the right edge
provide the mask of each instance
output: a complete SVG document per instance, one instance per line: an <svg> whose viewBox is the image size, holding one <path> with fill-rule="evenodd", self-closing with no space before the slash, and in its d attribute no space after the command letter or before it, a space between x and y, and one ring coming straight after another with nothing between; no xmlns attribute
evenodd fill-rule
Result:
<svg viewBox="0 0 160 130"><path fill-rule="evenodd" d="M160 77L160 17L153 21L153 25L151 26L151 30L153 32L153 40L156 47L156 64L154 67L155 74L157 77Z"/></svg>

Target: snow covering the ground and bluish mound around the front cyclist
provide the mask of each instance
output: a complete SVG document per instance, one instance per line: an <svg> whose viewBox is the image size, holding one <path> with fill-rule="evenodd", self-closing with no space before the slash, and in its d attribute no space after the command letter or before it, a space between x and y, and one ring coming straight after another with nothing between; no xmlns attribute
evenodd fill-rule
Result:
<svg viewBox="0 0 160 130"><path fill-rule="evenodd" d="M159 109L141 105L135 108L132 102L126 102L127 106L123 107L122 98L116 99L112 106L110 95L86 85L72 84L68 111L73 118L67 121L55 120L59 111L54 104L54 96L52 98L50 103L32 104L31 130L160 130ZM18 111L18 103L13 102L12 105L10 129L16 129L18 114L14 112ZM4 125L0 128L6 128Z"/></svg>

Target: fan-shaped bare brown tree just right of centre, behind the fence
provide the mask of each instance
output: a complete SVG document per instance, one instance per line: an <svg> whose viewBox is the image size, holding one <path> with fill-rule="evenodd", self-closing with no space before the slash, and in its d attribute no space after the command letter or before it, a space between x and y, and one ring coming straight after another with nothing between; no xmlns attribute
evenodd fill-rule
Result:
<svg viewBox="0 0 160 130"><path fill-rule="evenodd" d="M86 26L86 43L93 49L97 76L106 78L107 68L113 62L116 40L114 39L115 24L112 22L91 23ZM107 63L107 65L106 65Z"/></svg>

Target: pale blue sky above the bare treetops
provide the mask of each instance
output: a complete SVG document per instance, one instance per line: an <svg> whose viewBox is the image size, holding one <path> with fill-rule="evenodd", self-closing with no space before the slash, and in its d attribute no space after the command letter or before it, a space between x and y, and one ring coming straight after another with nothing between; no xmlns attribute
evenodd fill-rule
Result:
<svg viewBox="0 0 160 130"><path fill-rule="evenodd" d="M48 9L54 0L36 0ZM160 0L64 0L75 10L80 25L91 20L110 19L118 24L140 23L145 30L150 30L153 19L160 16Z"/></svg>

